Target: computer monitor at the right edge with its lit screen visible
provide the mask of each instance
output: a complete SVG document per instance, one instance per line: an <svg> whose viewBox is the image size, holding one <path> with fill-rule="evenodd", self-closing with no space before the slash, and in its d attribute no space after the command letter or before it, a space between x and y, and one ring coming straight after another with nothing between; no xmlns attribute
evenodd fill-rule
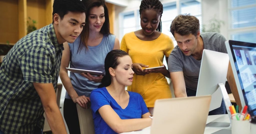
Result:
<svg viewBox="0 0 256 134"><path fill-rule="evenodd" d="M226 41L230 64L236 81L241 104L248 113L256 115L256 44Z"/></svg>

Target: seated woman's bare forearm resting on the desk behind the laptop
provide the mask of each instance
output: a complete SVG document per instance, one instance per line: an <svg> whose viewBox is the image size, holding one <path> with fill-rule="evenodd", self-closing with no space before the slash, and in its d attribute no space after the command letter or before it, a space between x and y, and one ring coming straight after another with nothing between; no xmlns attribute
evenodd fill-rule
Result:
<svg viewBox="0 0 256 134"><path fill-rule="evenodd" d="M117 133L130 132L141 130L143 128L151 126L152 119L140 118L140 119L120 119L116 123L116 127L113 129Z"/></svg>

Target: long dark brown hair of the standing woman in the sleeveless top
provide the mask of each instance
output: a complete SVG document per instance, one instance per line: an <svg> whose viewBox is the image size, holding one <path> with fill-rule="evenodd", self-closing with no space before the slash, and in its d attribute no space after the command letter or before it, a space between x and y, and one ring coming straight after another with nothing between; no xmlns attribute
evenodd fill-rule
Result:
<svg viewBox="0 0 256 134"><path fill-rule="evenodd" d="M77 52L81 51L84 47L86 47L86 49L88 50L88 38L89 38L89 14L90 14L90 10L93 7L100 7L103 6L104 7L104 16L105 16L105 22L103 23L102 28L100 29L100 33L102 33L104 36L107 36L110 34L110 28L109 28L109 12L108 12L108 8L105 5L105 0L82 0L82 2L84 3L84 5L86 6L86 24L83 27L83 30L80 34L80 43L79 43L79 47Z"/></svg>

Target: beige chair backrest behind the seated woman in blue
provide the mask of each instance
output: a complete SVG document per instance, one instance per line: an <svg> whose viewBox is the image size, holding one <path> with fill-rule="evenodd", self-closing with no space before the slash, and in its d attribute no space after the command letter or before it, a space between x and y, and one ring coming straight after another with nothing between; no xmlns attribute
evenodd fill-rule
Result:
<svg viewBox="0 0 256 134"><path fill-rule="evenodd" d="M79 119L81 134L94 134L94 123L91 108L84 109L77 104L77 114Z"/></svg>

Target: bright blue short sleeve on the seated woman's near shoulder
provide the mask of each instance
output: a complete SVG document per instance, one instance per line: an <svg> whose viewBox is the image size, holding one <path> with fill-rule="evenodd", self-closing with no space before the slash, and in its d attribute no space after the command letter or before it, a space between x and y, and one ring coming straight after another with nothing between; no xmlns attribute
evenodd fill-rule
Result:
<svg viewBox="0 0 256 134"><path fill-rule="evenodd" d="M94 113L96 113L102 106L110 105L108 99L103 95L103 92L94 89L90 95L91 108Z"/></svg>

